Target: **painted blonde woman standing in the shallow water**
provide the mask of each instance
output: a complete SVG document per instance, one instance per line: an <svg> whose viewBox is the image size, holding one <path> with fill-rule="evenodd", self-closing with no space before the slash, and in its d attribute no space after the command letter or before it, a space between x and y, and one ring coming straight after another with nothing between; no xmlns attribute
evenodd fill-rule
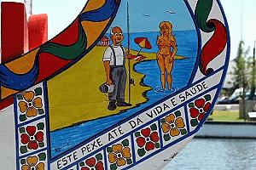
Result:
<svg viewBox="0 0 256 170"><path fill-rule="evenodd" d="M177 43L172 35L172 24L169 21L160 23L160 37L157 38L159 51L157 52L157 63L161 72L161 83L163 90L166 89L166 79L168 89L172 89L172 67L174 55L177 53ZM167 76L166 76L167 74Z"/></svg>

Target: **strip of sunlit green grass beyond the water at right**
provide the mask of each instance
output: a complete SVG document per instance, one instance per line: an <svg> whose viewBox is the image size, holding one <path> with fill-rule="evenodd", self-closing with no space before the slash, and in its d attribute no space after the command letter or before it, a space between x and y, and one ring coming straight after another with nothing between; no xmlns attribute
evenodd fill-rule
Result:
<svg viewBox="0 0 256 170"><path fill-rule="evenodd" d="M214 122L244 122L239 118L239 111L213 111L208 120Z"/></svg>

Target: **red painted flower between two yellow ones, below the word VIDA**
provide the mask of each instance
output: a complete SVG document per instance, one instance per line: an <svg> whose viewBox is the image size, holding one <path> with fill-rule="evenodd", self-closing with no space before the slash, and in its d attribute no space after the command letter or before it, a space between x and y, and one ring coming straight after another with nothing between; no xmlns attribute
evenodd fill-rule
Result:
<svg viewBox="0 0 256 170"><path fill-rule="evenodd" d="M138 137L136 139L137 145L140 148L143 148L145 146L145 149L148 150L154 150L155 143L159 141L159 135L157 132L152 132L149 127L141 130L141 133L143 134L143 137Z"/></svg>

